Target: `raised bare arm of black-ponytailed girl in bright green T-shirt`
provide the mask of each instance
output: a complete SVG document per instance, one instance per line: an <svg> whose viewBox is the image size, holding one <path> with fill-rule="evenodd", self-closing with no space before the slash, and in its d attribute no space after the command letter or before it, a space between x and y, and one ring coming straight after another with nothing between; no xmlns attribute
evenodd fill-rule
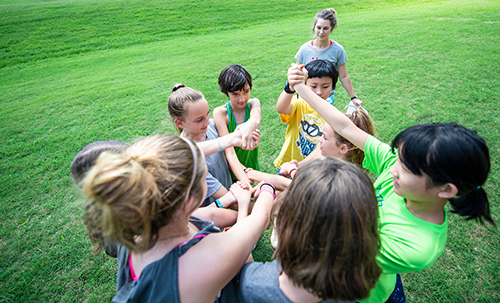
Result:
<svg viewBox="0 0 500 303"><path fill-rule="evenodd" d="M299 67L297 67L294 72L298 74L307 73L307 71ZM347 140L351 141L361 150L365 149L366 140L368 140L368 134L359 129L354 123L352 123L352 121L347 118L346 115L340 112L333 105L324 102L321 97L311 91L303 82L300 84L296 84L295 90L318 113L321 113L323 119L325 119L325 121L330 124L337 133L339 133Z"/></svg>

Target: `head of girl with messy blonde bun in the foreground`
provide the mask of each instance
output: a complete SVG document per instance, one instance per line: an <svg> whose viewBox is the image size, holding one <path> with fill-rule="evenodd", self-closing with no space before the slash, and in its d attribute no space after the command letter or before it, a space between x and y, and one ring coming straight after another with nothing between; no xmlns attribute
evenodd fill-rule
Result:
<svg viewBox="0 0 500 303"><path fill-rule="evenodd" d="M206 172L196 144L173 135L146 137L120 153L103 152L82 180L89 200L85 223L91 235L99 235L91 240L100 245L104 237L134 251L150 249L161 227L200 205Z"/></svg>

